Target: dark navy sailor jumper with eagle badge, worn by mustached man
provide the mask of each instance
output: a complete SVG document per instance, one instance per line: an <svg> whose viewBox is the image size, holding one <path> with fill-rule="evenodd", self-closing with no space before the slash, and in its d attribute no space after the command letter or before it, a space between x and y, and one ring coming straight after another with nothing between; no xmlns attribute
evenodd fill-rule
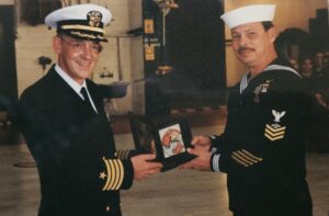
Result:
<svg viewBox="0 0 329 216"><path fill-rule="evenodd" d="M298 73L280 59L271 65L246 89L239 83L230 92L225 132L213 140L212 169L227 173L236 215L309 216L304 138L310 99Z"/></svg>

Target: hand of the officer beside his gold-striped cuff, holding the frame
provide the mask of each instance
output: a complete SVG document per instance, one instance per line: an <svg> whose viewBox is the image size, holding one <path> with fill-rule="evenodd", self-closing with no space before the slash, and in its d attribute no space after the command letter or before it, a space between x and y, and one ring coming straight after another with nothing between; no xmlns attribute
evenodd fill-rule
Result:
<svg viewBox="0 0 329 216"><path fill-rule="evenodd" d="M132 157L132 163L134 167L134 179L141 180L149 175L156 174L162 168L160 162L152 162L149 160L155 159L155 155L139 155Z"/></svg>

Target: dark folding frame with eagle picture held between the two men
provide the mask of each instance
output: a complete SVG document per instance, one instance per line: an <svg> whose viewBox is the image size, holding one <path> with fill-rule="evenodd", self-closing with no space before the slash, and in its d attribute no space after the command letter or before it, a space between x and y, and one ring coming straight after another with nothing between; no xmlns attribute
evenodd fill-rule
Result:
<svg viewBox="0 0 329 216"><path fill-rule="evenodd" d="M163 164L162 171L173 169L195 158L188 154L192 134L186 118L151 117L129 113L136 150L156 154L155 161Z"/></svg>

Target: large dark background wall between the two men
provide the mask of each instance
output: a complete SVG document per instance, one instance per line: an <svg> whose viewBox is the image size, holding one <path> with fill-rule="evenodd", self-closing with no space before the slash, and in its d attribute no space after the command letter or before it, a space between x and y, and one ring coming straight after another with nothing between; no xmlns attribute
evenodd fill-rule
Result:
<svg viewBox="0 0 329 216"><path fill-rule="evenodd" d="M195 107L223 102L225 34L219 0L177 0L179 8L166 16L166 47L162 14L151 0L143 2L144 19L151 19L155 32L145 34L145 44L155 45L155 59L145 61L146 112L168 113L174 107ZM172 71L159 73L159 65Z"/></svg>

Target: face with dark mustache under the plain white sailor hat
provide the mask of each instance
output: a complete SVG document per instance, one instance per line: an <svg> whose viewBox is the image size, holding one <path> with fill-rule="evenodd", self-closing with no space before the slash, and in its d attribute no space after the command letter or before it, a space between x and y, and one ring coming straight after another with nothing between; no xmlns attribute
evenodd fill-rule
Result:
<svg viewBox="0 0 329 216"><path fill-rule="evenodd" d="M231 30L232 48L238 59L248 67L266 61L273 52L275 31L264 30L262 23L248 23Z"/></svg>

